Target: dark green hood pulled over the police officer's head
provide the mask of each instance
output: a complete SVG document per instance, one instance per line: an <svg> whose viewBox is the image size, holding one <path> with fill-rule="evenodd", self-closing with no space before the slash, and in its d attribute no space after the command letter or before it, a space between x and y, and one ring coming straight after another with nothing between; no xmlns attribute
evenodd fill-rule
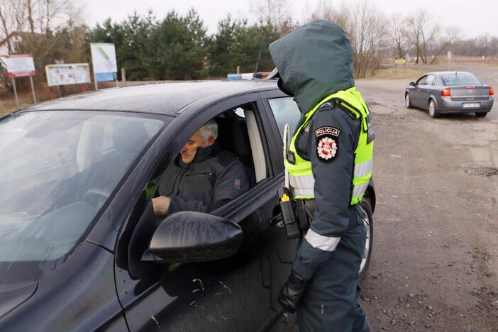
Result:
<svg viewBox="0 0 498 332"><path fill-rule="evenodd" d="M326 96L355 85L353 48L336 23L307 23L271 43L270 53L302 114Z"/></svg>

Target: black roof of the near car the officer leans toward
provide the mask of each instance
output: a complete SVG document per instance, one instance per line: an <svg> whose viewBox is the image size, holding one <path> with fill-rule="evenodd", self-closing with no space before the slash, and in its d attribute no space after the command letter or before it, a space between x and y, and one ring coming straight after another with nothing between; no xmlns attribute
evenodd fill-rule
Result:
<svg viewBox="0 0 498 332"><path fill-rule="evenodd" d="M166 82L101 89L28 106L21 111L111 110L175 115L194 101L206 104L238 94L278 89L264 79Z"/></svg>

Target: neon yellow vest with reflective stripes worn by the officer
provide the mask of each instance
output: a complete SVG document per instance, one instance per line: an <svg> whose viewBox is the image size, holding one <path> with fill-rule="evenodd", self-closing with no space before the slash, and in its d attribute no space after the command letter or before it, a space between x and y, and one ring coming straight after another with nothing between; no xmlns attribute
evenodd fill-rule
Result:
<svg viewBox="0 0 498 332"><path fill-rule="evenodd" d="M370 111L355 87L327 96L320 101L314 109L305 115L304 123L297 129L289 146L289 151L294 153L295 162L294 164L291 164L288 162L287 158L284 160L285 168L289 172L289 184L292 187L294 199L314 199L315 179L311 172L311 162L304 160L299 156L295 142L299 133L309 125L309 121L311 121L311 117L314 113L320 106L330 100L333 100L336 104L342 106L343 109L348 110L350 116L358 118L361 121L360 137L358 138L358 146L355 149L353 192L351 193L350 200L350 204L358 204L363 198L368 187L368 182L372 177L374 141L368 142L368 135L369 133L372 134L371 125L367 120Z"/></svg>

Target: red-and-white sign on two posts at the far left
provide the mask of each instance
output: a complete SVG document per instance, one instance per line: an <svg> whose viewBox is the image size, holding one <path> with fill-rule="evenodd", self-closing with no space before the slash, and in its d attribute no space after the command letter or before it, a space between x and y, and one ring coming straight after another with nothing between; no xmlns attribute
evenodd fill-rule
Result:
<svg viewBox="0 0 498 332"><path fill-rule="evenodd" d="M35 84L33 84L33 76L36 74L35 62L31 54L14 54L1 55L0 60L2 65L7 70L7 76L12 79L14 96L16 97L16 106L19 108L19 97L16 89L16 77L28 76L31 83L31 94L33 95L33 103L36 104Z"/></svg>

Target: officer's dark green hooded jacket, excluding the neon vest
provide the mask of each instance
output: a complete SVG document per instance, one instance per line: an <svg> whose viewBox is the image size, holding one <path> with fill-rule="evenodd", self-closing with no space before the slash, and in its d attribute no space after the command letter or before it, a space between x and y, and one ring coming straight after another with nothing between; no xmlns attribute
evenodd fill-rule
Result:
<svg viewBox="0 0 498 332"><path fill-rule="evenodd" d="M294 95L303 115L326 96L355 84L350 41L343 29L334 23L314 21L301 26L270 44L270 53L280 73L281 84ZM319 155L321 136L316 133L330 127L339 133L333 138L337 150L333 159L323 160ZM297 136L297 153L311 162L315 179L310 228L323 238L341 237L341 242L349 243L351 230L363 226L358 206L350 205L354 152L359 137L360 121L333 101L323 104L311 118L309 126ZM355 250L358 269L364 245L361 247L360 243ZM303 240L292 268L301 277L309 279L323 263L331 260L332 255L333 251L322 250Z"/></svg>

